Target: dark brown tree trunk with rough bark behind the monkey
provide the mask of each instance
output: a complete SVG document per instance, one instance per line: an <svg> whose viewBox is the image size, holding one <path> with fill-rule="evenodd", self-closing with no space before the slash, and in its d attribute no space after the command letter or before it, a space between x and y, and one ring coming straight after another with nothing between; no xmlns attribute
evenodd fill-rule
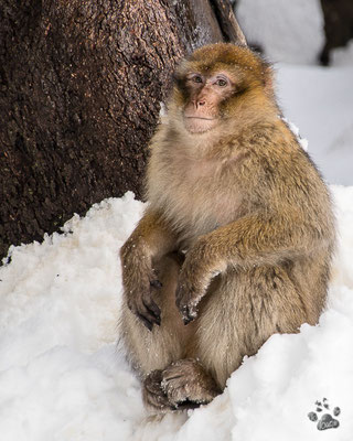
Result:
<svg viewBox="0 0 353 441"><path fill-rule="evenodd" d="M0 0L0 257L132 190L175 63L228 0Z"/></svg>

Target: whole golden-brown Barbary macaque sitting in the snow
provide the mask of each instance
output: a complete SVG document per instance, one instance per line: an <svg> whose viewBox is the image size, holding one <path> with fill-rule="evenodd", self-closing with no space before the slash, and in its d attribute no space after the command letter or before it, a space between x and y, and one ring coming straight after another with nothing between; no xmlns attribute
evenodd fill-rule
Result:
<svg viewBox="0 0 353 441"><path fill-rule="evenodd" d="M196 50L151 140L146 213L122 246L121 334L157 412L193 408L274 333L315 324L330 194L246 45Z"/></svg>

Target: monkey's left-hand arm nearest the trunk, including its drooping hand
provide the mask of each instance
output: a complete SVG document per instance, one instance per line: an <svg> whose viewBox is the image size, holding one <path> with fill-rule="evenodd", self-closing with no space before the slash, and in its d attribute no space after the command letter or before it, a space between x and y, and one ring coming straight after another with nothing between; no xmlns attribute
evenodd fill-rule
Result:
<svg viewBox="0 0 353 441"><path fill-rule="evenodd" d="M152 330L160 325L160 309L152 299L161 287L152 259L173 250L175 237L158 213L148 211L120 250L122 286L129 309Z"/></svg>

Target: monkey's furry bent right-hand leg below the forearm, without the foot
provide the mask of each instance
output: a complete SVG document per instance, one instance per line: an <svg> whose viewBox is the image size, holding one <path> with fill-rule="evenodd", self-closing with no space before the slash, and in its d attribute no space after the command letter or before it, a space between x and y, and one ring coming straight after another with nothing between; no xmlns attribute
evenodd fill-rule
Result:
<svg viewBox="0 0 353 441"><path fill-rule="evenodd" d="M245 355L307 321L302 295L281 267L228 270L201 305L196 357L223 389Z"/></svg>

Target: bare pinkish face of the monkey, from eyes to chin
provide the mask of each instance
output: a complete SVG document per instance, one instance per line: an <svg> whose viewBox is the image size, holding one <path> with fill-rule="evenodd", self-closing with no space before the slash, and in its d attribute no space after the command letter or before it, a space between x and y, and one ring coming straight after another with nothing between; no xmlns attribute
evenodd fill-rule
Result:
<svg viewBox="0 0 353 441"><path fill-rule="evenodd" d="M220 105L234 92L234 84L226 72L186 75L188 101L183 109L184 126L191 133L202 133L220 122Z"/></svg>

